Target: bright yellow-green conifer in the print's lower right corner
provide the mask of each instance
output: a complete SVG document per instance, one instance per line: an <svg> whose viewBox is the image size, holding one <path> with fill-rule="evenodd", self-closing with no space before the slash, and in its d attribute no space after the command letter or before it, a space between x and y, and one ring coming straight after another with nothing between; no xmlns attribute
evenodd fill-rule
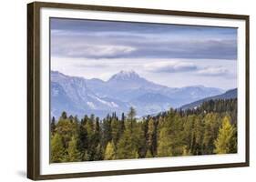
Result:
<svg viewBox="0 0 256 182"><path fill-rule="evenodd" d="M232 142L234 142L235 128L230 124L230 118L225 116L220 126L219 135L214 142L215 150L217 154L229 154L232 150Z"/></svg>

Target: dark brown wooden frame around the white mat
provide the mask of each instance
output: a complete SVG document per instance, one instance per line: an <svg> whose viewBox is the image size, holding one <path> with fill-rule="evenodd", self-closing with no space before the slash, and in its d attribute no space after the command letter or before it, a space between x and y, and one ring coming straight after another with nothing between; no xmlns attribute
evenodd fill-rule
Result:
<svg viewBox="0 0 256 182"><path fill-rule="evenodd" d="M246 22L246 138L245 138L245 155L246 161L242 163L229 164L212 164L200 166L184 166L184 167L158 167L158 168L142 168L115 171L97 171L85 173L68 173L57 175L41 175L40 174L40 9L43 7L60 8L60 9L79 9L94 10L106 12L125 12L133 14L146 15L181 15L191 17L206 18L223 18L238 19ZM250 161L249 147L249 15L230 15L215 13L198 13L184 11L170 11L159 9L142 9L128 8L117 6L100 6L100 5L75 5L75 4L58 4L34 2L27 5L27 177L33 180L70 178L70 177L97 177L110 175L127 175L142 173L158 173L181 170L198 170L223 167L248 167Z"/></svg>

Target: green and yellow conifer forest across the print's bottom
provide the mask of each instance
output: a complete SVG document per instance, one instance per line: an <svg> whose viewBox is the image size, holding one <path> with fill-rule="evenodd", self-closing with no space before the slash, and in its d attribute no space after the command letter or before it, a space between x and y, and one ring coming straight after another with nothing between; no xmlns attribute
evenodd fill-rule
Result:
<svg viewBox="0 0 256 182"><path fill-rule="evenodd" d="M102 120L63 112L52 118L50 143L52 163L236 153L237 99L139 119L132 107Z"/></svg>

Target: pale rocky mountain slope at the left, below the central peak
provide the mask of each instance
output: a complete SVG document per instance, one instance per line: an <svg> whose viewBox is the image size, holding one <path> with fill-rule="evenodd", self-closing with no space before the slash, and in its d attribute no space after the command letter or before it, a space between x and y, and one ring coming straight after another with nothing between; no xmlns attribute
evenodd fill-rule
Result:
<svg viewBox="0 0 256 182"><path fill-rule="evenodd" d="M51 72L51 109L54 116L63 110L72 115L102 114L119 110L118 103L95 95L88 87L86 79Z"/></svg>

